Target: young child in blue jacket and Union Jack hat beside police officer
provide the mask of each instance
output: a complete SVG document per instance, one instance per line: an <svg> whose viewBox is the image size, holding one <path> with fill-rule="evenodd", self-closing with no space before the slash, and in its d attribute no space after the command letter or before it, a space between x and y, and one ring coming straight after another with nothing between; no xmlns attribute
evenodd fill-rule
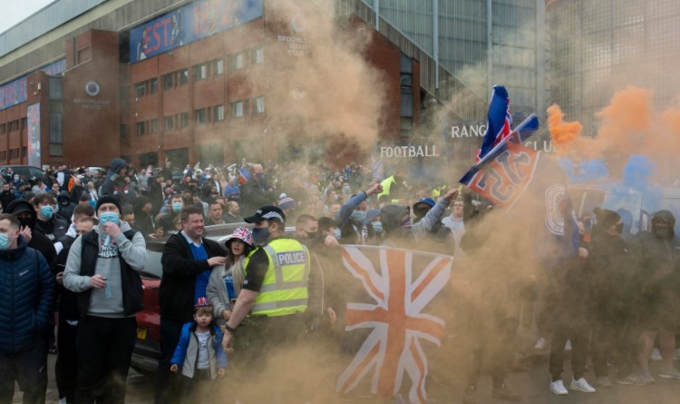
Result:
<svg viewBox="0 0 680 404"><path fill-rule="evenodd" d="M222 349L222 330L213 323L213 307L207 298L199 298L194 320L184 324L177 344L170 371L181 369L183 379L183 402L208 399L210 382L224 376L227 355Z"/></svg>

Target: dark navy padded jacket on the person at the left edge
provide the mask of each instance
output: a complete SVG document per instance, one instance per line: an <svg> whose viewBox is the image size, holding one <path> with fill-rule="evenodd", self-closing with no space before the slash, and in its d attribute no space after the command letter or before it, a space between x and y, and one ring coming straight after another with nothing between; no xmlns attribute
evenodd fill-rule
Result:
<svg viewBox="0 0 680 404"><path fill-rule="evenodd" d="M43 254L24 237L14 250L0 250L0 296L0 352L34 348L47 327L54 281Z"/></svg>

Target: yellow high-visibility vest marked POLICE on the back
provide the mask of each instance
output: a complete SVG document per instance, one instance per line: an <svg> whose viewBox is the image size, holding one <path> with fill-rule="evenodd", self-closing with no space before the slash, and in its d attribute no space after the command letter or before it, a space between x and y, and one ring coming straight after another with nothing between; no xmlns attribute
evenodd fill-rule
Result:
<svg viewBox="0 0 680 404"><path fill-rule="evenodd" d="M307 309L309 251L299 241L276 239L260 247L267 252L269 267L250 314L287 316ZM245 271L248 273L248 262Z"/></svg>

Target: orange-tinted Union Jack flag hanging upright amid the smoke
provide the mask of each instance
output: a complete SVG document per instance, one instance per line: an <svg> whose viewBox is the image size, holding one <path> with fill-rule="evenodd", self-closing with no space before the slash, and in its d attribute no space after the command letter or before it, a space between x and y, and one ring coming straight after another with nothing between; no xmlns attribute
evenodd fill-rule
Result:
<svg viewBox="0 0 680 404"><path fill-rule="evenodd" d="M439 347L444 321L423 310L451 278L452 257L369 246L343 246L342 255L345 268L362 281L375 304L347 303L345 330L372 330L340 375L337 391L346 394L370 378L372 394L392 397L405 373L411 379L410 401L425 402L428 365L422 341Z"/></svg>

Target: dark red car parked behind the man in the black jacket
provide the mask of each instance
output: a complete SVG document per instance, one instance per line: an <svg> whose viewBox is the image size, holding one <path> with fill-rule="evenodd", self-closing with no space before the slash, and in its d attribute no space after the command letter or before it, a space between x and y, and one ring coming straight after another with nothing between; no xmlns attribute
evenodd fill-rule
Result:
<svg viewBox="0 0 680 404"><path fill-rule="evenodd" d="M237 227L248 227L249 223L230 223L206 226L203 236L209 240L218 241L224 246L228 235ZM287 234L295 234L295 227L287 227ZM144 288L144 309L137 313L137 343L132 351L132 369L142 373L154 373L158 369L160 359L160 306L159 287L163 275L160 257L166 240L147 241L147 261L141 272L141 282Z"/></svg>

